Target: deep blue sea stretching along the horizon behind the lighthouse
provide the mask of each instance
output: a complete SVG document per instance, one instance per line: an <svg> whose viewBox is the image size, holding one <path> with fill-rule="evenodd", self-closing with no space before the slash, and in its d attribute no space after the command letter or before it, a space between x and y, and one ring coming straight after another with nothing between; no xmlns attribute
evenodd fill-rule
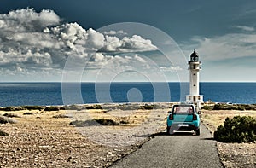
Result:
<svg viewBox="0 0 256 168"><path fill-rule="evenodd" d="M0 107L185 101L184 83L0 83ZM256 83L200 84L204 101L256 103Z"/></svg>

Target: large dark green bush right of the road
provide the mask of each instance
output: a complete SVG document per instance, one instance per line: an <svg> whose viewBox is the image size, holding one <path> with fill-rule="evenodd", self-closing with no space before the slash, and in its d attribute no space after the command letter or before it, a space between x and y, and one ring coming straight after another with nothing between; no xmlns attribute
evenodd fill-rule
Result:
<svg viewBox="0 0 256 168"><path fill-rule="evenodd" d="M226 118L224 125L218 126L214 132L214 139L218 142L255 142L256 119L251 116Z"/></svg>

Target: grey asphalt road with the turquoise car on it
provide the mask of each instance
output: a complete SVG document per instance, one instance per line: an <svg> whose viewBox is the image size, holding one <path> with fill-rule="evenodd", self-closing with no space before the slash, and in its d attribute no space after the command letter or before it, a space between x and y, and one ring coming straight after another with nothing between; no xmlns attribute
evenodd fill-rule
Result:
<svg viewBox="0 0 256 168"><path fill-rule="evenodd" d="M201 136L188 133L166 136L164 132L160 133L111 167L219 168L223 165L218 157L216 142L212 140L209 130L201 125Z"/></svg>

